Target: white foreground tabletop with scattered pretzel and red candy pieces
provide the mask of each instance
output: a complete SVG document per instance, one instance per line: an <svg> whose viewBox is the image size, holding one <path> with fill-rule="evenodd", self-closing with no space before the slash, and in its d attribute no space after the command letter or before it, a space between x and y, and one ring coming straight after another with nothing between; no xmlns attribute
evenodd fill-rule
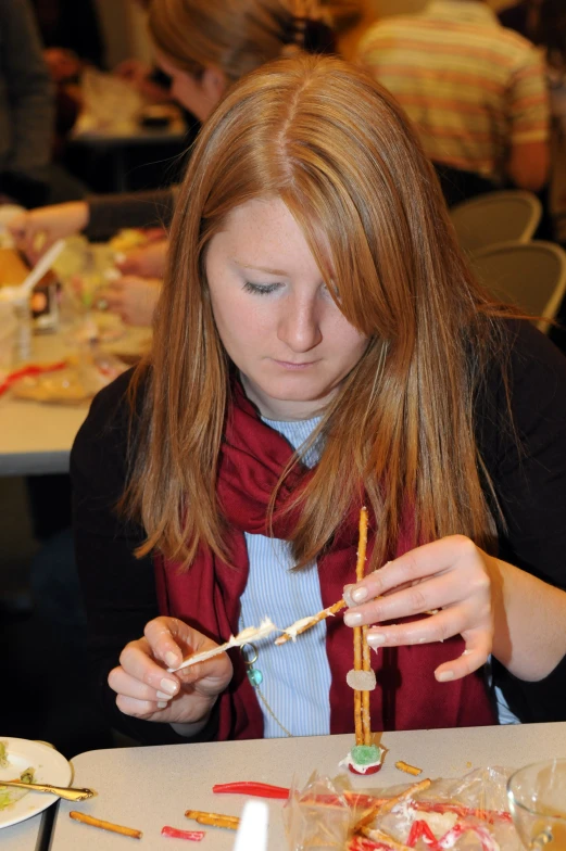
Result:
<svg viewBox="0 0 566 851"><path fill-rule="evenodd" d="M257 780L288 787L294 776L302 786L315 769L334 777L352 740L353 736L320 736L81 753L73 760L74 785L90 786L98 796L79 805L59 803L50 851L77 848L123 851L129 844L152 851L181 848L180 840L161 837L164 825L206 830L206 837L196 848L229 851L234 833L201 828L185 818L185 810L239 815L249 799L213 795L215 783ZM389 751L381 772L366 779L349 775L354 788L411 782L408 775L395 770L397 760L418 765L423 769L422 776L457 777L470 766L518 767L537 760L566 757L566 723L386 733L382 744ZM282 801L269 801L269 851L287 849L282 805ZM143 831L143 838L138 842L78 824L68 817L68 812L79 806L99 818L138 828ZM183 848L189 846L183 843Z"/></svg>

